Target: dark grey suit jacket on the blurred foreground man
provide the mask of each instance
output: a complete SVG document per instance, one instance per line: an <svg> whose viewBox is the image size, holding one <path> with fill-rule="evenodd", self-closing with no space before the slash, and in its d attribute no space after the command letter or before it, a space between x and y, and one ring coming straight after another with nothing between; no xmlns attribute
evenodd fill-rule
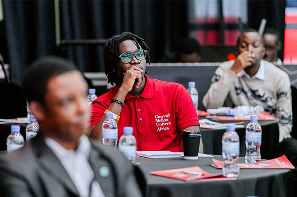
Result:
<svg viewBox="0 0 297 197"><path fill-rule="evenodd" d="M91 140L90 164L106 197L141 196L134 165L111 147ZM99 169L108 167L107 177ZM1 197L79 197L74 183L38 135L17 151L0 156Z"/></svg>

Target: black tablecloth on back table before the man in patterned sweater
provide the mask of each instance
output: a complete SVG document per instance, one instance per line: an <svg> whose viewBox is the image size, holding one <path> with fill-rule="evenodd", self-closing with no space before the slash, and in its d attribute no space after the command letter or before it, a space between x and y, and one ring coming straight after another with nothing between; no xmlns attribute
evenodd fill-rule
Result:
<svg viewBox="0 0 297 197"><path fill-rule="evenodd" d="M240 139L240 156L245 156L245 127L250 121L244 121L244 128L236 128L235 131ZM231 123L231 122L221 122ZM261 157L262 159L275 158L278 149L278 122L277 121L259 121L262 127ZM226 129L206 129L200 128L202 142L205 154L222 155L222 137Z"/></svg>

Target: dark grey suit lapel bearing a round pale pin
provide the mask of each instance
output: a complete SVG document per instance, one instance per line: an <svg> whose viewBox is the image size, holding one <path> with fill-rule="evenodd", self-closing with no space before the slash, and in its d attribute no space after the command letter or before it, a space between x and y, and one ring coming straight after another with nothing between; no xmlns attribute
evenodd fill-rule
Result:
<svg viewBox="0 0 297 197"><path fill-rule="evenodd" d="M114 197L116 195L116 191L114 191L116 183L111 164L93 146L89 161L94 171L95 180L99 182L105 197Z"/></svg>

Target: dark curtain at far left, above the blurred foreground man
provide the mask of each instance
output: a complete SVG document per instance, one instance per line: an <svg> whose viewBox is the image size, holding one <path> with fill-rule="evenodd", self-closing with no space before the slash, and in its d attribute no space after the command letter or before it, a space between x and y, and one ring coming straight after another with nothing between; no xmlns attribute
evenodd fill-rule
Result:
<svg viewBox="0 0 297 197"><path fill-rule="evenodd" d="M56 54L53 0L3 0L10 78L21 84L24 69L43 55Z"/></svg>

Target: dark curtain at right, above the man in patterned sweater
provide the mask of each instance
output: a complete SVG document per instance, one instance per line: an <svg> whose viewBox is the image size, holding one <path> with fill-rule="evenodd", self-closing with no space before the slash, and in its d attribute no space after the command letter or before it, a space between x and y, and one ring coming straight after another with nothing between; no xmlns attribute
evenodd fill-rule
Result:
<svg viewBox="0 0 297 197"><path fill-rule="evenodd" d="M259 29L261 19L267 20L266 27L272 27L280 33L279 40L283 44L285 31L286 0L248 0L248 26ZM278 53L283 60L283 47Z"/></svg>

